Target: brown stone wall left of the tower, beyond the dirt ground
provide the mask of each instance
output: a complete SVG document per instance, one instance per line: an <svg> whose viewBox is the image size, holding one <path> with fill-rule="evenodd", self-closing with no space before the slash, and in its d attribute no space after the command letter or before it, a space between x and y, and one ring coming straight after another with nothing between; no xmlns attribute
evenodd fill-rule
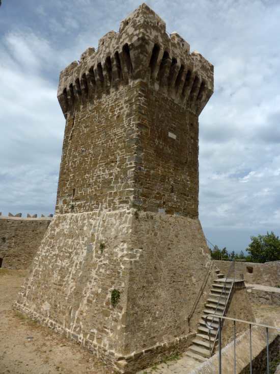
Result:
<svg viewBox="0 0 280 374"><path fill-rule="evenodd" d="M29 267L50 221L50 217L22 218L0 215L2 267L9 269Z"/></svg>

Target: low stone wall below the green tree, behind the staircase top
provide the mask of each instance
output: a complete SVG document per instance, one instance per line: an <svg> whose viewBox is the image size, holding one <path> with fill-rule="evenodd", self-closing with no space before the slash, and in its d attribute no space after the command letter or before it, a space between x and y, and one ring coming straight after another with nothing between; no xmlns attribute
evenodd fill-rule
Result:
<svg viewBox="0 0 280 374"><path fill-rule="evenodd" d="M214 263L221 272L227 275L231 261L214 260ZM246 283L262 284L271 287L278 287L280 285L280 261L271 261L264 264L236 261L235 272L237 276L243 273Z"/></svg>

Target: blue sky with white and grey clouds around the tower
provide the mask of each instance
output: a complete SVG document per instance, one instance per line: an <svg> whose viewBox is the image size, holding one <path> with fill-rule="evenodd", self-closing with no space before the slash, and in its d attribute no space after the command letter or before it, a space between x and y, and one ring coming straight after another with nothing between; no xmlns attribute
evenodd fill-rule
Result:
<svg viewBox="0 0 280 374"><path fill-rule="evenodd" d="M232 251L280 235L280 1L146 2L215 66L200 116L200 219ZM3 0L0 8L0 211L52 213L65 120L59 72L137 0Z"/></svg>

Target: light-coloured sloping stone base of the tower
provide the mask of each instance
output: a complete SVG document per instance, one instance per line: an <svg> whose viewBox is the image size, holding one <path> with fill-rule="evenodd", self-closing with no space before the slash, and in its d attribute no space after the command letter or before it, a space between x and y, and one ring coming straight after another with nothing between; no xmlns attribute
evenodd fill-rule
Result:
<svg viewBox="0 0 280 374"><path fill-rule="evenodd" d="M15 308L133 372L190 344L188 315L209 263L198 219L55 215Z"/></svg>

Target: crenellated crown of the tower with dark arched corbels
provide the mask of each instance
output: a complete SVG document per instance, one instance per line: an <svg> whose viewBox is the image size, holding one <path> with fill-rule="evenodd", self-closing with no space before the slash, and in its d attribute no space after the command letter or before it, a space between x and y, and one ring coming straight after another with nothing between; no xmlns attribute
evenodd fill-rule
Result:
<svg viewBox="0 0 280 374"><path fill-rule="evenodd" d="M213 65L146 4L126 17L60 74L58 99L64 115L122 85L144 81L199 115L213 93Z"/></svg>

